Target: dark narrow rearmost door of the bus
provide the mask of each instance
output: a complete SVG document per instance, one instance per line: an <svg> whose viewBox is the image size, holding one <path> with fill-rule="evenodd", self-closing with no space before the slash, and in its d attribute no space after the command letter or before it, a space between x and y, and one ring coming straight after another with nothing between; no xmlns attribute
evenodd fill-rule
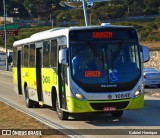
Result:
<svg viewBox="0 0 160 138"><path fill-rule="evenodd" d="M19 94L22 94L21 58L22 58L22 51L17 51L17 81L18 81L18 92L19 92Z"/></svg>

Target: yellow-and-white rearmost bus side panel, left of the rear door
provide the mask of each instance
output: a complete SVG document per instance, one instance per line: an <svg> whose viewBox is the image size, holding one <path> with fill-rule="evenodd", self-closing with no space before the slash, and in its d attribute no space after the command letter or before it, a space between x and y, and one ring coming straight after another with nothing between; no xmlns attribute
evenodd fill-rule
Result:
<svg viewBox="0 0 160 138"><path fill-rule="evenodd" d="M13 77L13 89L17 94L18 93L18 80L17 80L17 68L13 67L12 68L12 77Z"/></svg>

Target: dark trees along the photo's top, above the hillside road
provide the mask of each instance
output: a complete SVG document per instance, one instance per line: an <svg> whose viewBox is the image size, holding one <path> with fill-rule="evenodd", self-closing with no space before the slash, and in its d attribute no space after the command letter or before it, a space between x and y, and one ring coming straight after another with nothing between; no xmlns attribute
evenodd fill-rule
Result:
<svg viewBox="0 0 160 138"><path fill-rule="evenodd" d="M5 0L7 15L20 19L41 18L55 20L83 19L82 9L69 7L73 0ZM74 0L75 1L75 0ZM67 3L66 3L67 2ZM76 4L76 2L74 2ZM78 5L82 5L80 2ZM3 0L0 1L3 5ZM67 5L67 6L66 6ZM76 6L74 6L76 7ZM137 15L158 14L160 11L159 0L111 0L110 2L94 3L88 9L89 14L103 19L115 19ZM81 13L80 13L81 12ZM76 14L75 14L76 13ZM76 15L76 16L75 16ZM78 18L77 15L80 17ZM3 8L0 8L3 16Z"/></svg>

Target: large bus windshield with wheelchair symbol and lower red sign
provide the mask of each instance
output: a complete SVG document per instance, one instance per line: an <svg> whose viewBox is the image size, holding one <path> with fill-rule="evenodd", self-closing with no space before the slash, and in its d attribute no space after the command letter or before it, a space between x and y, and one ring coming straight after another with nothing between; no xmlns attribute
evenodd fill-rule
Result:
<svg viewBox="0 0 160 138"><path fill-rule="evenodd" d="M81 84L131 82L141 72L136 42L76 42L71 45L72 78Z"/></svg>

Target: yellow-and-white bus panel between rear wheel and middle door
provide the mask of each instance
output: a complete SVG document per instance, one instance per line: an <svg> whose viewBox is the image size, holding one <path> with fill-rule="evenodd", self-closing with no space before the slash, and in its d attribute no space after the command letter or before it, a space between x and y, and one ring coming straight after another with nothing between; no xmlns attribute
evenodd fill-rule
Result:
<svg viewBox="0 0 160 138"><path fill-rule="evenodd" d="M28 69L28 76L29 76L29 85L28 85L28 92L29 98L34 101L38 101L37 95L37 82L36 82L36 69L29 68Z"/></svg>

